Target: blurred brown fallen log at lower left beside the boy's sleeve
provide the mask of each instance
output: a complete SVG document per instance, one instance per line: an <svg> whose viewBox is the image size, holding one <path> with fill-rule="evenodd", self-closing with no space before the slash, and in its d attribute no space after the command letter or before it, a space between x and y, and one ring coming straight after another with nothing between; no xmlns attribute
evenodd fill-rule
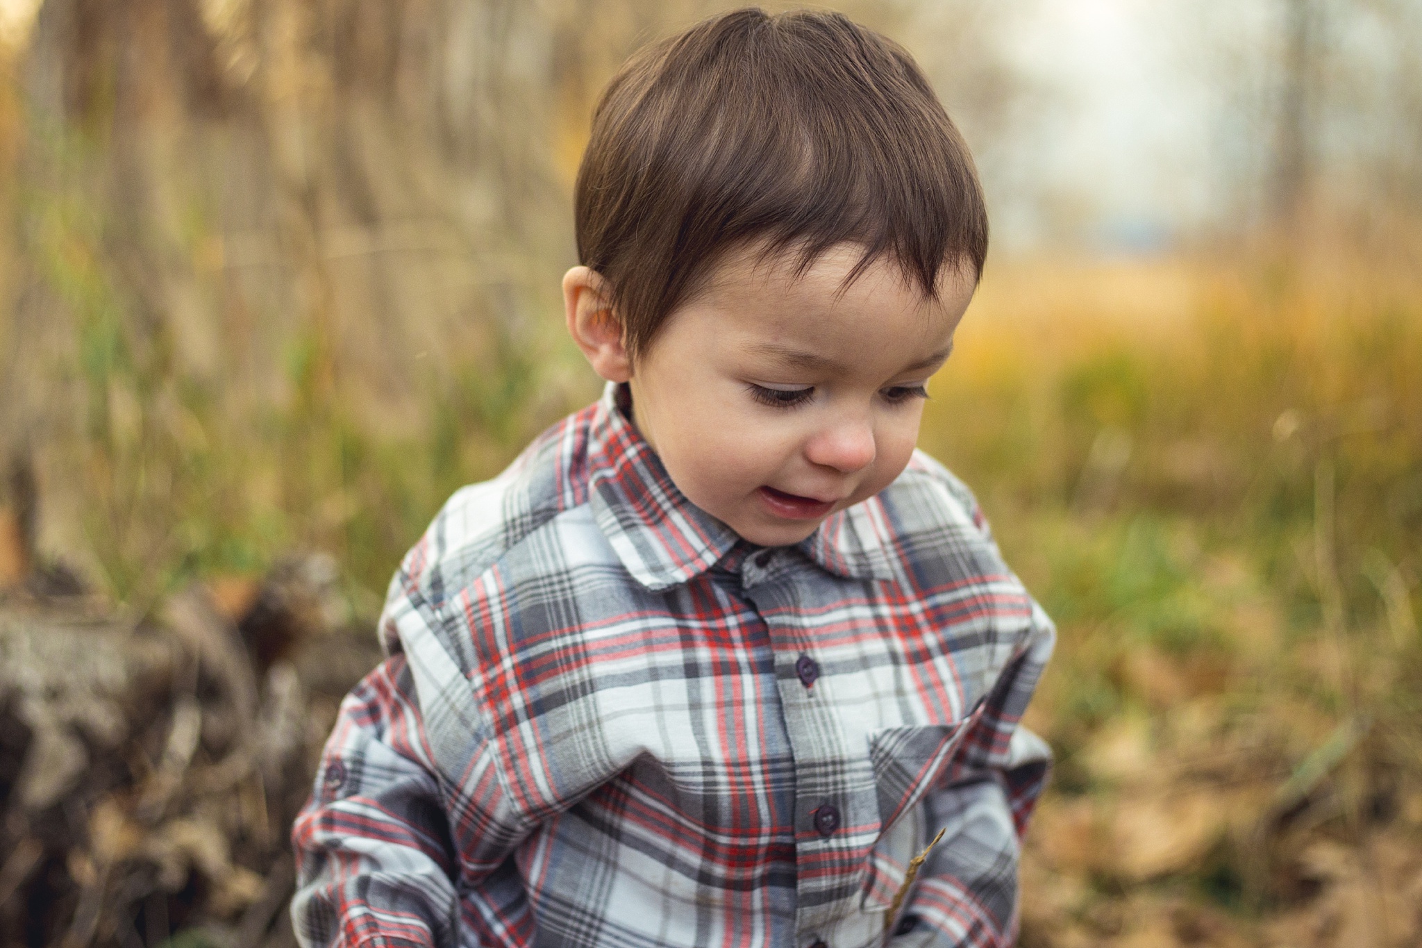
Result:
<svg viewBox="0 0 1422 948"><path fill-rule="evenodd" d="M0 941L294 944L290 823L380 658L331 576L284 561L237 614L203 586L151 617L0 596Z"/></svg>

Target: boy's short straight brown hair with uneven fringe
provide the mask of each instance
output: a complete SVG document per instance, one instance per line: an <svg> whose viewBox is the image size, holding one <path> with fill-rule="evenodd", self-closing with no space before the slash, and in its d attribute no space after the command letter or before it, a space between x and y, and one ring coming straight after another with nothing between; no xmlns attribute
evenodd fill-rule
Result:
<svg viewBox="0 0 1422 948"><path fill-rule="evenodd" d="M929 297L987 254L973 158L900 45L842 14L757 9L657 43L609 82L577 172L579 260L610 284L629 351L738 246L887 254Z"/></svg>

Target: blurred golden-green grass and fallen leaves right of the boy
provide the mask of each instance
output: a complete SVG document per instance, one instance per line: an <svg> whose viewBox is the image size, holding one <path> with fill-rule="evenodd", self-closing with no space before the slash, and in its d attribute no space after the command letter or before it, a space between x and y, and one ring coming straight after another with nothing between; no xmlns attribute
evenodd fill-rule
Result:
<svg viewBox="0 0 1422 948"><path fill-rule="evenodd" d="M1422 294L1025 264L923 442L1061 624L1030 945L1422 937Z"/></svg>

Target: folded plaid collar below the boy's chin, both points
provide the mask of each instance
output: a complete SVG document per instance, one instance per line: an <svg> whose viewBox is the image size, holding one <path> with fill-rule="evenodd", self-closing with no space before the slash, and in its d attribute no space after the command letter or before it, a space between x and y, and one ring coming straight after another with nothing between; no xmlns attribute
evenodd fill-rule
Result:
<svg viewBox="0 0 1422 948"><path fill-rule="evenodd" d="M633 578L663 590L704 573L739 537L687 500L629 418L626 385L609 382L589 426L589 505ZM828 517L798 544L825 570L848 578L893 578L892 532L879 497Z"/></svg>

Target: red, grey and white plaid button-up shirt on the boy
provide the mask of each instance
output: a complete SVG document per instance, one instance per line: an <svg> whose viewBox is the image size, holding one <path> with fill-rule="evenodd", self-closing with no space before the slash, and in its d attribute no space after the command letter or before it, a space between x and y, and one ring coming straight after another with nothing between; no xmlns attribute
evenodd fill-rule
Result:
<svg viewBox="0 0 1422 948"><path fill-rule="evenodd" d="M301 944L1010 944L1054 631L971 495L916 453L754 547L619 394L455 493L391 581L293 830Z"/></svg>

